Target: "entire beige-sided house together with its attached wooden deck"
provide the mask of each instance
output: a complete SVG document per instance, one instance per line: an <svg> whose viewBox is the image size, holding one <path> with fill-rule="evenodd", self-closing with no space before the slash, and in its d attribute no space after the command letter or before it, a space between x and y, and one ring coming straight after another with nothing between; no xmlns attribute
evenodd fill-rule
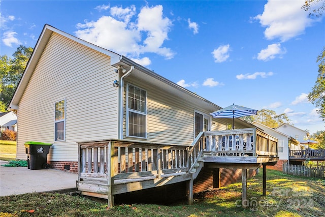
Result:
<svg viewBox="0 0 325 217"><path fill-rule="evenodd" d="M277 161L277 140L251 123L236 118L228 130L231 119L209 115L218 105L50 25L9 107L18 114L18 159L26 159L27 141L51 143L50 166L78 172L78 189L109 205L113 196L184 181L189 197L242 177L246 183L248 170ZM93 187L89 178L104 184Z"/></svg>

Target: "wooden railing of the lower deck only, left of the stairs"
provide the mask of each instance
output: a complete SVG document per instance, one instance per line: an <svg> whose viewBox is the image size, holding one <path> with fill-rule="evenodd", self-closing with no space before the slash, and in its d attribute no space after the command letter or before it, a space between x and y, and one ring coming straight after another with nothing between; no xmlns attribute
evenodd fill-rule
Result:
<svg viewBox="0 0 325 217"><path fill-rule="evenodd" d="M186 172L188 146L127 140L80 142L79 177L117 179Z"/></svg>

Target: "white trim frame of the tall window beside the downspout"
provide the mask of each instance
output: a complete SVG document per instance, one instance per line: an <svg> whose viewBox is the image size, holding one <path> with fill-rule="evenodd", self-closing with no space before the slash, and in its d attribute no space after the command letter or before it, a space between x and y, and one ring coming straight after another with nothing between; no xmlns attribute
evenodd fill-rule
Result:
<svg viewBox="0 0 325 217"><path fill-rule="evenodd" d="M137 87L137 88L139 88L139 89L142 89L142 90L144 90L144 91L146 91L146 108L145 108L145 112L141 112L141 111L136 111L136 110L133 110L133 109L129 109L128 108L128 86L129 85L132 85L132 86L134 86L134 87ZM126 134L125 134L125 136L126 137L129 137L129 138L137 138L137 139L147 139L147 132L148 132L148 121L147 121L147 117L148 117L148 110L147 110L147 107L148 107L148 96L147 96L147 94L148 94L148 91L146 90L146 89L144 89L144 88L142 88L142 87L139 87L139 86L137 86L137 85L134 85L134 84L132 84L132 83L127 83L126 84L126 95L125 95L125 101L126 101L126 103L125 103L125 107L126 107L126 109L125 109L125 129L126 129ZM128 112L129 111L132 111L132 112L134 112L134 113L138 113L138 114L142 114L142 115L145 115L145 125L146 125L146 127L145 127L145 137L138 137L138 136L130 136L129 134L128 134Z"/></svg>

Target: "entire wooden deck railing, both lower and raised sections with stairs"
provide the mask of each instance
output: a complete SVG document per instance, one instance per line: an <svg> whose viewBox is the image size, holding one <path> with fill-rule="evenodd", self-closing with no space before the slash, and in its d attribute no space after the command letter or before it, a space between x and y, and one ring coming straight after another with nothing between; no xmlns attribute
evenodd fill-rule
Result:
<svg viewBox="0 0 325 217"><path fill-rule="evenodd" d="M114 180L168 173L188 173L203 152L216 157L277 157L277 139L256 128L201 132L191 145L128 140L79 142L79 176Z"/></svg>

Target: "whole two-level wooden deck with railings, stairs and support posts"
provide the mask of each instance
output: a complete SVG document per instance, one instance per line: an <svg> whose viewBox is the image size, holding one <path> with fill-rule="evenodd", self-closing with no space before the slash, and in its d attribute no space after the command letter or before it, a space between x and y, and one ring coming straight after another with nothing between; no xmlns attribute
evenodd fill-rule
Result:
<svg viewBox="0 0 325 217"><path fill-rule="evenodd" d="M114 195L182 181L188 181L191 204L193 180L202 167L241 168L246 183L247 169L278 160L277 140L255 128L201 132L190 145L109 139L78 146L78 190L108 199L109 206Z"/></svg>

